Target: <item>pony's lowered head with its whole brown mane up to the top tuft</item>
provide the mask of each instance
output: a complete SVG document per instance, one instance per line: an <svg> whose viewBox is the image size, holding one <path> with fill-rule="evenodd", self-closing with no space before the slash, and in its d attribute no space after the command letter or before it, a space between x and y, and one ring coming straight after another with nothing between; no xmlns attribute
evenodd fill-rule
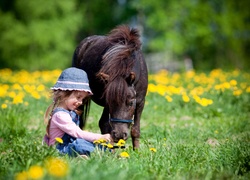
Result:
<svg viewBox="0 0 250 180"><path fill-rule="evenodd" d="M111 135L117 142L127 140L136 109L136 52L141 43L136 29L120 26L108 35L111 46L102 56L98 76L104 81L103 98L109 109Z"/></svg>

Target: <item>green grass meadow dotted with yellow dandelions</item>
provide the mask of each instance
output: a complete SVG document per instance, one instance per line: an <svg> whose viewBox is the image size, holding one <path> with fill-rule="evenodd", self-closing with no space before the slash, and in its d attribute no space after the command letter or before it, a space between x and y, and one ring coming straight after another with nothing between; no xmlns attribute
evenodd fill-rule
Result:
<svg viewBox="0 0 250 180"><path fill-rule="evenodd" d="M0 179L250 178L250 74L151 74L140 149L129 139L126 149L96 150L86 160L41 143L47 91L59 73L0 70ZM101 110L92 103L86 129L99 132Z"/></svg>

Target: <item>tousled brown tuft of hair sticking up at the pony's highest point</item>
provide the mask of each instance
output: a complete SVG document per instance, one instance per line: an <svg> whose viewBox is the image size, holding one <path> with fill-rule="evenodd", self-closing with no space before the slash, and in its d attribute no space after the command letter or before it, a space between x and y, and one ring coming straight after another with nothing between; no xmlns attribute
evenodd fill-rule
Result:
<svg viewBox="0 0 250 180"><path fill-rule="evenodd" d="M108 34L108 40L112 44L123 44L129 46L131 50L141 48L140 34L135 28L126 25L117 26Z"/></svg>

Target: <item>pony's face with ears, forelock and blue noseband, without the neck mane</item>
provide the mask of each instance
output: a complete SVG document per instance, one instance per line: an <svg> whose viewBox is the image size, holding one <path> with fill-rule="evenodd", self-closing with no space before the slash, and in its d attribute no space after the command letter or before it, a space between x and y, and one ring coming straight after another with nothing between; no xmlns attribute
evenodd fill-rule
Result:
<svg viewBox="0 0 250 180"><path fill-rule="evenodd" d="M106 78L107 74L102 74ZM133 124L136 108L136 91L133 82L134 73L126 79L117 77L111 82L107 81L103 96L109 109L111 135L114 142L119 139L127 140L130 126Z"/></svg>

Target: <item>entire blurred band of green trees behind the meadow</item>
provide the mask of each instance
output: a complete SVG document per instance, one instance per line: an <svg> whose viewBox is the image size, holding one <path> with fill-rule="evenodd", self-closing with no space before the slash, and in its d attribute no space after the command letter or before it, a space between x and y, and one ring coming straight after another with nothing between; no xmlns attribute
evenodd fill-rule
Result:
<svg viewBox="0 0 250 180"><path fill-rule="evenodd" d="M161 52L168 54L162 61L191 58L196 69L248 69L249 6L236 0L2 0L0 68L65 68L83 38L129 24L141 30L146 57Z"/></svg>

